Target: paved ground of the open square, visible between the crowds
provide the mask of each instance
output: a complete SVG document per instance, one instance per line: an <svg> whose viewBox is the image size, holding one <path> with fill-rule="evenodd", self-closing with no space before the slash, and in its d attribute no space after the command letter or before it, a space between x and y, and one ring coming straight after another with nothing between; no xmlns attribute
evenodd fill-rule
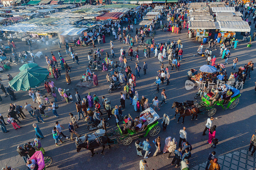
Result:
<svg viewBox="0 0 256 170"><path fill-rule="evenodd" d="M164 22L165 23L165 22ZM134 26L134 33L135 36L135 29L139 27L139 25ZM169 32L161 32L160 30L156 31L156 35L154 36L156 42L167 42L167 40L176 41L180 38L182 40L183 49L184 49L184 57L181 62L180 71L171 71L171 83L169 86L166 86L166 82L164 85L160 85L160 91L165 88L166 95L167 95L167 104L163 105L160 111L157 113L162 118L163 114L168 114L171 118L174 116L174 110L170 109L172 106L173 101L183 102L185 100L194 100L194 95L197 92L196 87L194 89L187 91L184 88L185 81L187 80L187 71L190 68L199 69L200 66L206 64L206 59L197 55L197 48L199 43L196 43L194 39L186 38L187 29L182 29L181 34L174 34ZM255 30L252 29L252 32ZM242 39L240 33L237 33L238 39ZM109 49L109 40L112 39L111 36L106 37L105 44L101 45L101 48L104 49L104 52L107 51L110 54ZM151 37L150 37L151 38ZM147 40L147 38L146 38ZM15 41L16 42L16 41ZM123 47L128 51L129 45L124 45L119 41L113 41L116 57L115 61L118 61L118 57L120 55L120 48ZM7 44L6 41L4 41ZM25 46L24 42L17 41L16 42L18 49L17 52L23 51L24 49L28 50L28 46ZM206 46L206 45L205 45ZM239 62L237 63L237 68L239 66L244 66L245 63L252 60L255 63L255 43L252 43L252 48L246 47L246 42L239 42L238 47L236 50L231 49L231 57L229 59L229 64L227 66L228 74L231 71L232 67L232 60L237 56L239 58ZM47 49L46 49L47 48ZM76 63L72 63L72 59L65 55L65 50L61 48L61 54L64 56L64 59L67 63L72 66L72 70L70 73L70 77L72 83L70 85L66 85L65 76L62 76L58 81L55 81L56 86L63 89L70 89L70 93L74 96L75 91L77 90L81 98L85 95L88 95L88 92L91 94L96 94L99 97L103 95L111 99L112 105L120 104L119 100L119 92L122 90L116 90L113 93L108 93L108 83L106 82L106 74L107 72L96 72L98 75L99 85L97 87L92 87L92 89L76 87L75 85L80 81L81 75L84 74L85 69L87 68L88 59L87 55L89 48L88 47L74 47L74 52L78 53L79 56L79 65ZM33 52L34 54L37 51L42 51L46 55L51 55L51 51L57 56L57 52L59 48L57 45L51 46L43 46L43 45L34 45L33 44ZM134 49L135 50L135 49ZM160 68L159 61L154 58L143 58L142 48L140 48L140 59L139 64L140 66L143 65L143 62L146 61L148 63L148 70L147 75L143 75L141 71L141 77L136 79L136 90L139 92L139 96L144 95L149 101L152 102L152 99L155 96L158 96L161 99L161 93L156 93L156 86L153 84L156 77L156 71ZM221 61L219 57L219 49L213 50L213 54L217 56L216 63L224 62ZM8 56L11 54L8 54ZM195 55L195 56L193 56ZM153 56L153 54L151 54ZM58 58L58 57L57 57ZM135 68L135 59L133 58L132 61L128 60L128 65L131 66L132 71L134 72ZM46 67L46 62L44 59L37 59L36 62L41 67ZM168 65L168 61L164 60L164 65ZM18 66L12 66L10 71L1 73L1 78L3 79L3 83L5 86L8 84L7 80L7 73L10 73L13 77L19 73ZM60 67L58 67L60 68ZM237 70L237 69L236 69ZM62 73L62 75L64 75ZM221 107L216 107L217 112L214 115L216 119L213 121L213 125L217 126L216 129L216 137L219 139L219 144L215 149L212 149L210 145L206 144L208 139L207 136L202 136L202 131L204 130L206 119L208 118L207 115L199 115L198 120L190 121L190 117L185 118L185 123L181 125L180 123L177 124L177 118L171 119L169 126L167 127L166 131L160 131L159 136L161 136L161 143L162 148L164 146L164 139L166 137L171 136L172 138L175 137L177 140L179 139L179 130L182 129L183 126L187 127L188 132L188 142L192 144L192 157L190 159L190 167L200 165L202 162L207 160L208 154L213 150L216 151L217 156L226 155L228 153L233 152L240 152L242 149L247 150L249 146L249 141L251 139L252 133L254 133L255 129L255 91L254 91L254 82L255 82L255 74L252 72L252 79L247 79L243 89L241 90L241 97L239 104L234 109L227 109L223 110ZM51 79L51 78L49 78ZM43 94L46 93L43 86L38 87L38 89L42 90ZM32 106L37 106L37 104L33 104L30 96L28 96L28 92L15 92L17 95L17 100L13 103L19 104L24 106L25 102L32 104ZM11 102L10 98L4 98L3 94L1 93L3 98L3 102L0 103L0 113L6 117L7 111L9 108L9 103ZM68 122L70 118L68 113L76 113L75 103L67 104L60 100L60 96L57 94L58 97L58 105L60 108L57 110L60 117L56 119L52 112L47 112L50 115L47 118L44 118L45 123L38 123L38 126L42 130L44 134L44 139L41 140L41 143L46 151L46 156L52 157L52 164L48 167L48 169L139 169L139 161L142 159L141 157L136 156L136 148L134 143L139 138L137 136L133 137L132 144L128 146L124 146L121 143L115 144L112 146L110 150L107 149L104 151L103 155L95 155L94 157L90 157L89 151L82 150L81 152L76 152L75 143L69 140L66 143L61 144L59 147L55 147L54 140L52 138L52 128L55 125L55 121L59 121L65 129L63 129L63 133L68 135ZM50 101L53 101L53 98L50 96ZM151 103L152 104L152 103ZM103 117L107 117L106 113L104 113ZM27 112L25 112L28 115ZM124 115L131 114L133 117L138 115L138 112L133 111L133 107L129 105L129 100L126 101L126 107L123 111ZM76 116L77 117L77 116ZM77 117L78 118L78 117ZM218 118L218 119L217 119ZM110 126L108 130L111 128L116 129L115 127L115 120L112 118L109 120ZM35 131L32 127L32 124L36 123L35 118L26 118L21 121L21 125L23 126L22 129L14 130L10 125L7 126L7 129L10 130L9 133L0 133L0 165L11 165L13 168L19 169L26 169L24 165L23 159L18 156L16 152L17 145L23 145L28 141L33 141L35 138ZM85 135L86 133L91 133L87 130L86 122L84 119L78 121L79 128L77 129L78 133L81 135ZM161 120L159 120L159 125ZM69 136L69 135L68 135ZM156 137L149 137L150 141L154 140ZM141 142L145 140L145 138L139 139ZM170 165L172 159L166 159L167 155L160 154L156 157L152 157L153 152L155 151L155 147L151 142L151 155L147 159L148 162L148 169L174 169L174 166ZM96 149L96 152L101 152L102 148ZM173 154L172 154L173 157ZM226 157L225 157L226 158ZM227 157L228 158L228 157ZM249 158L249 157L248 157ZM247 159L248 159L247 158ZM253 157L255 159L255 155ZM232 160L233 161L233 160ZM250 165L254 166L255 165Z"/></svg>

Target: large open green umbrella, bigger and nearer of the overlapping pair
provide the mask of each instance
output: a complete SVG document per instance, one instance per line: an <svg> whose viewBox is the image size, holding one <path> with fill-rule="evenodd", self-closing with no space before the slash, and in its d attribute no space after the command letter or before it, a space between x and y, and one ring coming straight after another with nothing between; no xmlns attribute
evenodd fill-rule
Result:
<svg viewBox="0 0 256 170"><path fill-rule="evenodd" d="M27 91L29 88L35 88L39 86L48 78L49 71L41 67L33 67L20 71L20 73L15 76L9 85L15 91Z"/></svg>

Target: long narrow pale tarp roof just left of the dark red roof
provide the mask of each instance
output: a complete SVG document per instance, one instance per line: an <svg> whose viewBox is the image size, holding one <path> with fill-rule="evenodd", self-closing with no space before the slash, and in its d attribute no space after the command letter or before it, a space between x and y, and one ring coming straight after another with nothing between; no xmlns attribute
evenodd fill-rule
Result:
<svg viewBox="0 0 256 170"><path fill-rule="evenodd" d="M53 14L49 14L47 16L49 17L61 17L61 18L84 18L84 19L95 19L95 17L98 17L101 15L101 13L71 13L71 12L55 12Z"/></svg>

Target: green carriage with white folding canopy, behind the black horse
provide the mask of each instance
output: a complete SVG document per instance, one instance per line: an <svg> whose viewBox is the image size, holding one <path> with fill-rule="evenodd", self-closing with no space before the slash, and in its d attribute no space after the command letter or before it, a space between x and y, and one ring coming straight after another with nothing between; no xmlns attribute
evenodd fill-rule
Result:
<svg viewBox="0 0 256 170"><path fill-rule="evenodd" d="M124 145L129 145L132 143L132 136L136 134L140 134L142 132L146 132L143 137L146 137L149 133L149 136L156 136L160 132L160 126L158 126L158 119L159 115L155 112L155 110L151 107L147 108L143 112L140 113L140 117L142 117L144 114L149 112L151 115L153 115L153 120L151 122L148 122L147 127L144 128L142 131L138 131L136 129L127 129L127 133L124 134L122 131L122 126L117 125L116 133L120 135L121 137L118 137L120 141L123 141ZM150 115L149 114L149 115ZM127 123L128 120L124 119L124 123Z"/></svg>

